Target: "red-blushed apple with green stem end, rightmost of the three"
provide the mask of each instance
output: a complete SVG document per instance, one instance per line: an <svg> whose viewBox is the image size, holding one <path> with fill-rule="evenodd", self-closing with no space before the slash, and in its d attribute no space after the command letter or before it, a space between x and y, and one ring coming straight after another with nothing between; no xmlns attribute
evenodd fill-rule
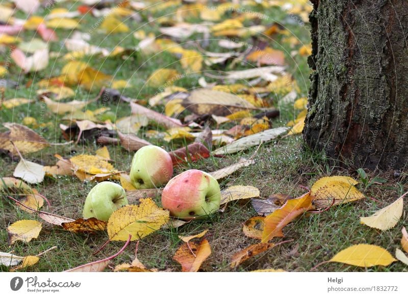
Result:
<svg viewBox="0 0 408 297"><path fill-rule="evenodd" d="M163 189L162 205L182 220L205 219L220 207L218 181L201 170L187 170L173 177Z"/></svg>

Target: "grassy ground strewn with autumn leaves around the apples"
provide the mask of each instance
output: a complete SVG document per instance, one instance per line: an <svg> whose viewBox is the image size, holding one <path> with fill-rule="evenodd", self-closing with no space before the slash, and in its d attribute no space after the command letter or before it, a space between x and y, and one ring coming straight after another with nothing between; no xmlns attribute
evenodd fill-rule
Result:
<svg viewBox="0 0 408 297"><path fill-rule="evenodd" d="M344 170L302 149L311 9L0 4L2 270L407 271L405 173ZM138 191L131 160L147 144L171 153L173 176L212 174L219 211L184 223L160 189ZM84 221L103 180L156 219L126 217L131 237L117 223L130 208Z"/></svg>

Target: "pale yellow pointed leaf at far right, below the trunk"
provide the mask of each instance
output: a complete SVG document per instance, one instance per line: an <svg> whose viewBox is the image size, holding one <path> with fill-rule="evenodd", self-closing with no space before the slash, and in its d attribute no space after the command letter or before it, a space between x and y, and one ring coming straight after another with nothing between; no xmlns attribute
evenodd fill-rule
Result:
<svg viewBox="0 0 408 297"><path fill-rule="evenodd" d="M390 205L376 211L370 217L361 217L360 223L383 231L391 229L397 225L401 218L403 207L403 197L400 197Z"/></svg>

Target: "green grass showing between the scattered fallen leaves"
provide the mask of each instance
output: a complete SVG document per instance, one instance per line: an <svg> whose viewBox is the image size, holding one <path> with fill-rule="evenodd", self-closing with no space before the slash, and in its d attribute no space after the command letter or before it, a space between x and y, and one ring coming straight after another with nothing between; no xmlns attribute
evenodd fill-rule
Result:
<svg viewBox="0 0 408 297"><path fill-rule="evenodd" d="M78 6L74 5L71 7L69 3L62 5L65 5L70 10L74 10ZM285 24L288 31L291 32L291 36L295 36L304 44L310 42L309 32L297 23L288 21L288 15L281 9L276 7L268 9L250 7L248 9L262 12L269 16L268 19L261 20L262 24L271 25L274 21ZM157 18L165 14L172 15L174 11L175 9L168 9L153 13L150 16ZM40 14L41 13L45 12L41 11ZM24 16L20 17L24 18ZM131 33L142 28L146 33L154 32L158 34L160 25L157 22L147 24L148 17L149 13L143 12L141 13L142 22L127 19L125 23L129 25ZM226 14L224 19L228 17L231 17L231 14ZM199 19L192 16L189 21L198 22ZM83 26L82 31L87 32L88 28L95 23L95 18L86 15L83 17L81 23ZM248 25L249 24L251 23L249 22ZM60 39L67 37L70 33L70 31L57 30ZM118 44L125 48L131 48L137 45L132 34L122 33L106 36L95 30L92 31L90 35L91 40L89 42L91 44L110 49ZM30 40L32 33L24 32L20 38ZM310 71L307 66L307 58L299 55L291 57L291 51L298 48L298 46L293 47L292 44L283 42L283 39L284 36L277 35L272 40L269 40L269 43L274 48L286 52L286 61L288 62L287 70L293 76L294 81L297 82L299 88L297 92L298 97L306 96ZM188 40L185 42L187 41ZM242 41L247 40L242 39ZM188 47L192 47L191 43L186 43L186 48ZM60 43L51 44L50 49L60 52L61 56L67 53L65 47L61 47ZM217 46L216 40L212 40L207 50L220 51L221 49ZM101 59L100 57L94 56L83 58L83 61L100 71L114 75L115 79L130 79L132 87L124 89L123 95L139 100L146 100L157 92L157 89L145 86L145 80L156 69L168 67L174 68L180 73L184 72L178 59L169 53L160 53L160 55L154 56L132 53L132 55L125 60L120 58ZM11 67L7 79L18 81L21 87L16 90L7 88L5 90L5 98L22 97L36 100L37 87L35 83L39 82L40 79L59 75L66 62L67 61L61 58L52 58L46 70L28 75L20 73L18 67ZM236 70L245 68L247 68L247 65L238 63ZM197 74L186 75L183 79L177 80L175 85L187 89L196 88L199 86L199 77L200 75ZM209 83L216 82L208 77L206 77L206 79ZM77 100L94 98L99 92L99 90L88 92L81 87L78 87L75 91L75 99ZM270 95L270 101L272 104L277 105L277 99L282 98L283 95L284 94L281 94L279 90L276 90L276 93ZM89 110L95 110L99 107L101 107L100 102L91 103L87 106ZM111 111L115 113L117 119L130 115L130 109L126 103L109 102L106 107L109 107ZM296 115L291 105L279 107L281 107L281 116L273 121L272 124L274 127L285 125ZM158 111L162 112L160 108ZM44 123L45 128L42 129L41 132L44 138L49 142L61 143L65 141L61 137L59 124L69 124L69 121L64 120L63 116L56 116L51 113L37 100L34 103L21 105L12 110L0 110L0 118L3 122L21 123L24 117L34 117L40 124ZM42 119L41 122L40 119ZM226 127L231 126L230 124L230 126ZM155 129L156 127L147 127L147 129L149 128ZM0 127L0 129L0 131L6 130L2 127ZM38 127L34 128L34 130L40 132ZM145 130L140 131L139 136L143 136L144 131ZM182 143L169 144L160 139L149 141L163 146L167 150L182 146ZM94 154L97 148L98 146L93 141L80 143L78 145L51 146L40 152L30 154L27 158L39 164L53 165L56 161L53 156L55 153L69 158L81 153ZM130 160L133 154L125 151L120 146L109 146L108 149L113 159L112 165L118 170L129 171ZM226 158L210 157L208 159L199 160L196 163L184 164L176 168L175 174L192 168L211 172L235 163L240 157L249 157L253 152L254 149L249 149ZM305 153L302 150L302 140L299 136L284 138L262 145L255 160L256 163L254 165L244 168L221 180L221 187L224 188L226 186L239 184L252 185L259 188L261 197L268 197L276 193L285 193L297 197L305 192L300 185L311 186L314 181L323 176L350 175L358 179L358 174L355 171L346 171L331 167L323 156ZM17 162L18 160L12 160L9 155L2 154L0 158L0 176L12 176ZM368 173L368 177L373 178L377 174L386 176L388 181L384 184L373 184L367 189L363 184L359 186L362 191L364 190L363 193L367 197L374 197L379 202L367 198L355 203L330 208L323 213L304 214L295 222L285 227L285 237L283 239L273 239L273 242L294 239L292 242L250 258L237 268L230 268L231 256L239 250L259 242L259 240L246 237L242 232L242 224L247 219L257 215L249 201L232 202L228 204L224 212L219 212L208 220L194 221L177 229L159 230L143 238L139 243L138 258L150 268L180 271L180 265L172 260L172 256L181 245L181 240L178 235L190 235L205 229L209 229L207 238L212 248L211 256L203 262L200 268L201 271L206 272L252 271L265 268L282 268L294 272L309 271L313 266L330 259L342 249L362 243L384 247L393 254L396 248L400 248L400 230L404 223L406 224L407 220L408 208L406 203L403 217L397 226L389 231L379 232L378 230L361 225L360 217L367 216L375 210L395 201L408 187L405 184L404 176L394 178L393 176L389 176L388 173L376 172ZM82 214L85 197L93 185L95 185L95 183L83 182L76 177L60 176L56 179L46 177L42 183L34 185L33 187L52 203L51 207L44 207L44 210L69 218L79 218ZM13 202L6 198L6 194L1 193L0 195L0 208L2 211L2 220L0 221L0 251L13 251L16 255L25 256L36 255L50 247L58 246L57 250L41 256L37 264L23 268L22 271L63 271L110 256L116 253L123 245L123 242L111 242L103 251L97 255L92 255L108 239L106 233L96 235L73 234L62 230L62 228L43 223L43 229L38 238L28 243L17 241L13 246L9 246L7 242L7 226L18 220L37 218L35 218L35 215L21 211ZM154 199L160 204L160 197L154 197ZM41 220L39 219L39 221ZM135 247L136 242L131 242L125 252L112 261L112 265L131 262L134 257ZM4 271L7 271L5 266L0 267ZM407 268L401 262L394 262L387 267L375 266L373 268L354 267L340 263L327 263L319 266L318 271L407 271Z"/></svg>

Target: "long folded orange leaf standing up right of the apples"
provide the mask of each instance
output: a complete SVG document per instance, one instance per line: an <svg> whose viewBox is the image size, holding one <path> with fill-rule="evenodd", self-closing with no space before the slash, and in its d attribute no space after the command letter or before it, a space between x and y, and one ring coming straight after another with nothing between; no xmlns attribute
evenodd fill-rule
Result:
<svg viewBox="0 0 408 297"><path fill-rule="evenodd" d="M284 236L282 229L298 215L313 208L310 192L296 199L290 199L281 207L265 217L265 227L262 232L262 242L268 242L273 237Z"/></svg>

